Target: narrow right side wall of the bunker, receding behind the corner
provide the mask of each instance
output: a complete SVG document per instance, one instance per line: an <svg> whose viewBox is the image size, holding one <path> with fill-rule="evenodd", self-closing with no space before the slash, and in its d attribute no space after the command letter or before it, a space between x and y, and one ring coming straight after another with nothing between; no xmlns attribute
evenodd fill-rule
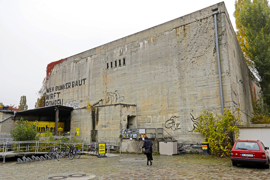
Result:
<svg viewBox="0 0 270 180"><path fill-rule="evenodd" d="M250 72L250 70L247 67L247 63L244 59L244 55L241 51L241 47L236 38L227 11L225 11L222 16L225 19L224 27L226 27L226 30L223 32L219 31L219 36L226 35L227 37L227 42L224 44L227 51L224 51L223 53L227 54L226 56L228 56L227 58L229 60L228 73L230 74L231 89L229 89L228 92L230 98L232 98L232 101L228 101L227 104L230 103L229 107L233 107L232 109L240 107L243 122L250 123L250 116L252 116L251 113L253 112L252 95L250 94L258 94L260 89L247 76L247 73ZM219 26L222 25L220 24ZM257 100L258 98L258 96L253 95L253 100Z"/></svg>

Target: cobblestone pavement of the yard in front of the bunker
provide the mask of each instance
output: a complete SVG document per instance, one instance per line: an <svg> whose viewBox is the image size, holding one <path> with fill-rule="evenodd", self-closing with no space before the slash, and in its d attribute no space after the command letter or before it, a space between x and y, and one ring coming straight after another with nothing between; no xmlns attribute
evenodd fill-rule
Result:
<svg viewBox="0 0 270 180"><path fill-rule="evenodd" d="M216 159L199 154L153 156L153 165L146 165L143 154L121 154L98 158L81 155L69 158L17 164L6 158L0 163L0 179L270 179L270 169L241 164L232 166L229 159ZM1 158L0 160L3 160Z"/></svg>

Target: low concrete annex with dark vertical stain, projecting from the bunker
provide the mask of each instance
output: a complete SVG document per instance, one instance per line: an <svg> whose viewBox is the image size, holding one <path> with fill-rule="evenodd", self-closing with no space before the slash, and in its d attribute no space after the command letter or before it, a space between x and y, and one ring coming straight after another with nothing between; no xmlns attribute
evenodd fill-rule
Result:
<svg viewBox="0 0 270 180"><path fill-rule="evenodd" d="M71 115L71 132L79 128L79 135L85 141L97 141L117 144L121 129L127 126L128 116L136 116L136 106L113 104L95 107L94 111L76 109Z"/></svg>

